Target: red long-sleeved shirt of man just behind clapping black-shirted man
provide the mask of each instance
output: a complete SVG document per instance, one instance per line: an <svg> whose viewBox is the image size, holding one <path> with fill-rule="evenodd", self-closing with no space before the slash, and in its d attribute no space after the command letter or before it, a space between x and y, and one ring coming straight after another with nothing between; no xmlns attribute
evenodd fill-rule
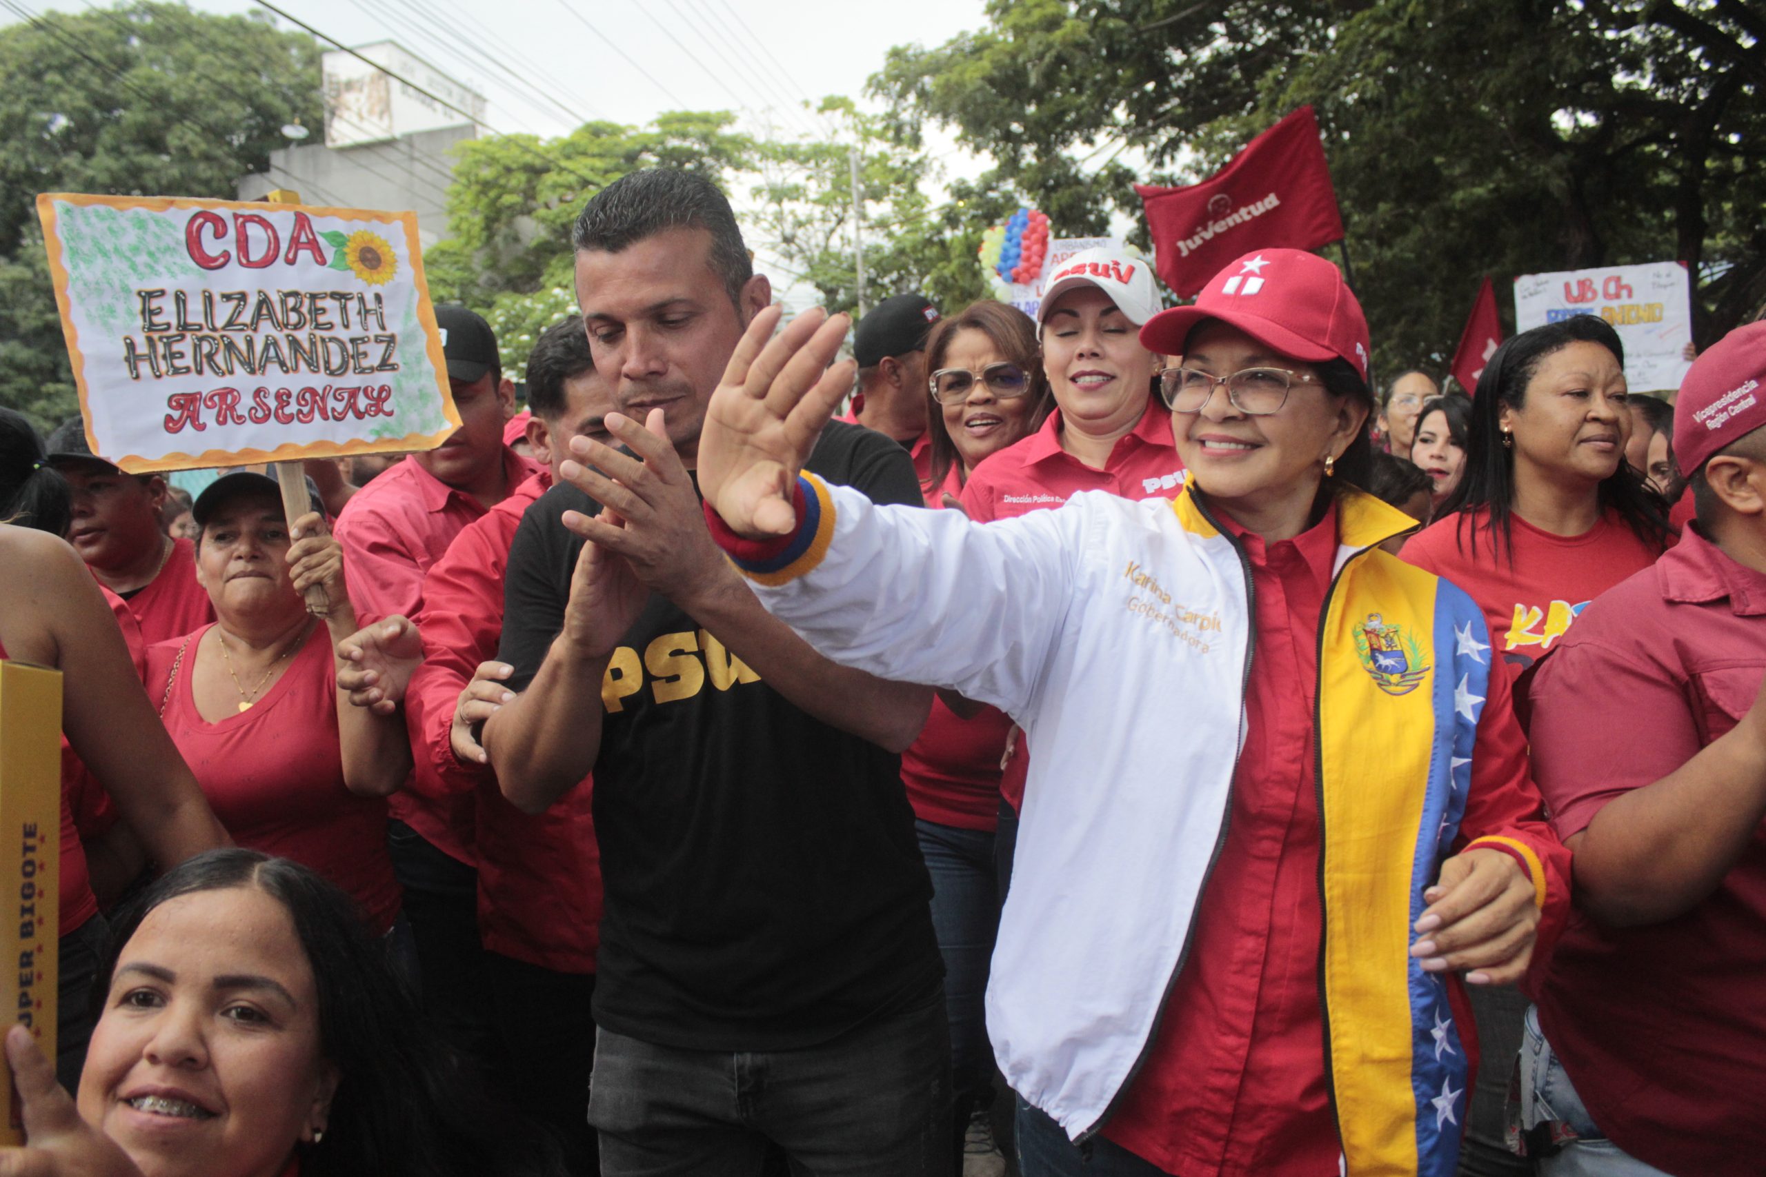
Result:
<svg viewBox="0 0 1766 1177"><path fill-rule="evenodd" d="M585 780L544 813L503 799L496 776L454 759L449 729L459 692L496 656L503 572L521 515L551 485L528 478L468 524L424 577L424 665L404 692L419 789L475 806L479 935L493 953L555 972L593 972L600 942L600 852Z"/></svg>

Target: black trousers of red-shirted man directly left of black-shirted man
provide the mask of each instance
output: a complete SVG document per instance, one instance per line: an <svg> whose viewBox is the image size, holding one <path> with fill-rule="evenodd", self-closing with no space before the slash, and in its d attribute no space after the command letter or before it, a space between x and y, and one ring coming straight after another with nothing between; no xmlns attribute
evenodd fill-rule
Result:
<svg viewBox="0 0 1766 1177"><path fill-rule="evenodd" d="M595 1064L593 972L555 972L486 953L496 1025L496 1089L558 1133L572 1173L595 1173L588 1075Z"/></svg>

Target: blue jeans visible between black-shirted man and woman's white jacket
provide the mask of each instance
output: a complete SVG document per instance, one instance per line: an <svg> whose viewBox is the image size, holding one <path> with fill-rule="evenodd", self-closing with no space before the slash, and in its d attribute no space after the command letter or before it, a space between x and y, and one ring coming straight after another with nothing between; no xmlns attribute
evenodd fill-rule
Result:
<svg viewBox="0 0 1766 1177"><path fill-rule="evenodd" d="M992 1091L987 1045L987 963L1000 932L1000 886L991 829L959 829L915 821L920 854L932 875L932 932L945 958L945 1015L950 1020L952 1156L962 1165L970 1113Z"/></svg>

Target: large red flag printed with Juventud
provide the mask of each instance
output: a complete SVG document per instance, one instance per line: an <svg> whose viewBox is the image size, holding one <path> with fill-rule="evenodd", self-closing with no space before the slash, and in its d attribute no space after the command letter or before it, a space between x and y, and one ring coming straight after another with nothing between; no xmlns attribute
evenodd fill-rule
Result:
<svg viewBox="0 0 1766 1177"><path fill-rule="evenodd" d="M1134 191L1146 203L1158 277L1183 298L1247 251L1317 249L1342 240L1342 214L1310 106L1259 134L1201 184L1136 184Z"/></svg>

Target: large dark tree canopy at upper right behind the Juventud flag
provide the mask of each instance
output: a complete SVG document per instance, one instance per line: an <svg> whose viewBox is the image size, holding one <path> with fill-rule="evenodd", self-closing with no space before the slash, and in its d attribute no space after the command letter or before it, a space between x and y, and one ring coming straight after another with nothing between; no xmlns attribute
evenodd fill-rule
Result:
<svg viewBox="0 0 1766 1177"><path fill-rule="evenodd" d="M1766 300L1748 0L992 0L871 90L899 134L992 154L1061 233L1139 222L1132 180L1203 178L1312 102L1385 371L1441 365L1483 274L1679 258L1701 344Z"/></svg>

